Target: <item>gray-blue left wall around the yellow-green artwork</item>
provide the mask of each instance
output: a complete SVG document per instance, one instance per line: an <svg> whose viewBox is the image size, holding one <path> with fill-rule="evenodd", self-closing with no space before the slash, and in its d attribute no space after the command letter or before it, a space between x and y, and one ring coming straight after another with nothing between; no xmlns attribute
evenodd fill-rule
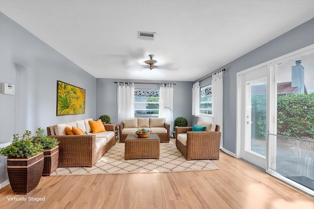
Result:
<svg viewBox="0 0 314 209"><path fill-rule="evenodd" d="M85 114L56 116L56 82L86 90ZM16 87L0 93L0 147L25 130L96 118L96 78L0 13L0 83ZM7 182L6 158L0 157L0 187Z"/></svg>

